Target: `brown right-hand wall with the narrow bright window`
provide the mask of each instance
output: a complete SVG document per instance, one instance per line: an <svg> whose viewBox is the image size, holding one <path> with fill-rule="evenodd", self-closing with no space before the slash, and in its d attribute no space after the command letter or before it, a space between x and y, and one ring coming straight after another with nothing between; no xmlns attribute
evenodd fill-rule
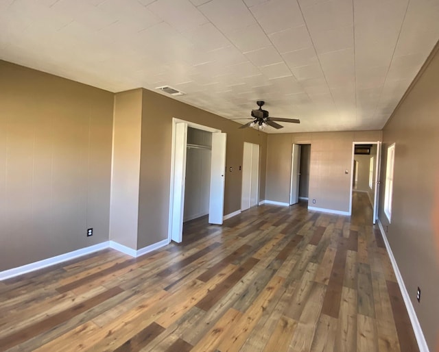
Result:
<svg viewBox="0 0 439 352"><path fill-rule="evenodd" d="M381 204L386 151L395 143L392 223L380 208L387 237L430 351L439 329L439 246L433 221L439 217L439 54L436 46L425 71L383 129ZM422 72L422 71L421 71ZM439 228L436 229L439 241ZM420 303L416 290L421 289ZM438 341L439 342L439 341Z"/></svg>

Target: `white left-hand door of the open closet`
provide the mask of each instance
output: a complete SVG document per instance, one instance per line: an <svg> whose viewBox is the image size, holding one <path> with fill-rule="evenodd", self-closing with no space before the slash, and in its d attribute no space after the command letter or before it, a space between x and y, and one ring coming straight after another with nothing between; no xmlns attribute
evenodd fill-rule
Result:
<svg viewBox="0 0 439 352"><path fill-rule="evenodd" d="M180 243L183 238L185 210L187 123L177 123L174 151L174 202L172 203L171 239Z"/></svg>

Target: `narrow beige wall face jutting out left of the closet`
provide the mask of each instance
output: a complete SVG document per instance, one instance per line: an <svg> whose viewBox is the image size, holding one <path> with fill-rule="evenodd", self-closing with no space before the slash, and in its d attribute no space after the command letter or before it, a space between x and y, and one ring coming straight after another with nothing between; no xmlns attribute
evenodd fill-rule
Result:
<svg viewBox="0 0 439 352"><path fill-rule="evenodd" d="M141 124L141 90L117 93L113 122L109 238L132 249L137 249Z"/></svg>

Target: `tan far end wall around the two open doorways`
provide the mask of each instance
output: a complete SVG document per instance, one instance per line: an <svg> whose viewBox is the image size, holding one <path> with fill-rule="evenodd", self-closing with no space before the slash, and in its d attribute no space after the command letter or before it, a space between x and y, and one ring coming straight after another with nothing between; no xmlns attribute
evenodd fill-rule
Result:
<svg viewBox="0 0 439 352"><path fill-rule="evenodd" d="M265 199L289 203L292 144L311 144L309 206L348 212L353 142L375 140L381 131L268 135Z"/></svg>

